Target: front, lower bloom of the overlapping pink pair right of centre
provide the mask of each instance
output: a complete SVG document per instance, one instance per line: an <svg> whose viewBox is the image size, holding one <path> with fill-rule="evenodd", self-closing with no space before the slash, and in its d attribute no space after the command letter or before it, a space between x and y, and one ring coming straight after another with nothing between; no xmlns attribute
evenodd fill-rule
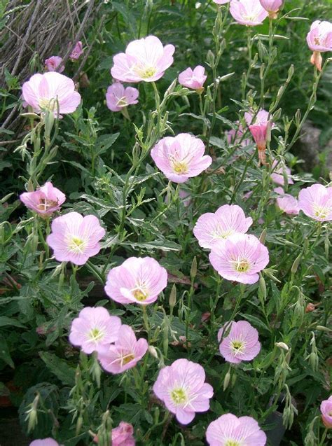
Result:
<svg viewBox="0 0 332 446"><path fill-rule="evenodd" d="M254 235L233 234L212 246L209 260L224 279L255 284L269 256L268 249Z"/></svg>

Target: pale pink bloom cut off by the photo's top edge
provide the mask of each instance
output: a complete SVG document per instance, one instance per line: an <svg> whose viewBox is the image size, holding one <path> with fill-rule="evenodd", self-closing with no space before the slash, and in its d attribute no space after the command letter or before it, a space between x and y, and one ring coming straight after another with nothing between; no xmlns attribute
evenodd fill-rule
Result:
<svg viewBox="0 0 332 446"><path fill-rule="evenodd" d="M230 14L240 25L261 25L268 17L268 12L261 6L259 0L232 0Z"/></svg>

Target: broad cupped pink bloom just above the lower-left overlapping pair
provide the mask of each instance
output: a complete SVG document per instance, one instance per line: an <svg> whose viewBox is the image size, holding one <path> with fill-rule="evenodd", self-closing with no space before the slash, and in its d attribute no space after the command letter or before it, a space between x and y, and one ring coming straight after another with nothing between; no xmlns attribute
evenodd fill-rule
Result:
<svg viewBox="0 0 332 446"><path fill-rule="evenodd" d="M151 257L130 257L112 268L105 292L121 304L148 305L157 300L167 286L167 271Z"/></svg>

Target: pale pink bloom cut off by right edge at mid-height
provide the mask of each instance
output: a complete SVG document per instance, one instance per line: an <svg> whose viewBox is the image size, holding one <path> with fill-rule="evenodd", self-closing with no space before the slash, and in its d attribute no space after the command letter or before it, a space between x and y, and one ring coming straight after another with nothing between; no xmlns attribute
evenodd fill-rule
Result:
<svg viewBox="0 0 332 446"><path fill-rule="evenodd" d="M332 220L332 187L325 188L321 184L313 184L300 190L298 206L306 216L317 221Z"/></svg>

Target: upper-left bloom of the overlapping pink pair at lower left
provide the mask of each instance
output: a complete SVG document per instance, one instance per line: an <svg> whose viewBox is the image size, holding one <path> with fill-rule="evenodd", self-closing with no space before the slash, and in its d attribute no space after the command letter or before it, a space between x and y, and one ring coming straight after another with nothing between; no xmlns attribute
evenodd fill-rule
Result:
<svg viewBox="0 0 332 446"><path fill-rule="evenodd" d="M120 326L120 318L111 316L106 308L85 307L71 323L69 341L90 354L105 344L115 342Z"/></svg>

